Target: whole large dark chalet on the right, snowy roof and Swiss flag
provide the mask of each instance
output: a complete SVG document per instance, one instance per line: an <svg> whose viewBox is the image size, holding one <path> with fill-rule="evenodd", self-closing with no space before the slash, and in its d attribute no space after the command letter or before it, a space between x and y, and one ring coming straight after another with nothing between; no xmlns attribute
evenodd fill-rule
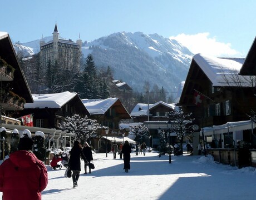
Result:
<svg viewBox="0 0 256 200"><path fill-rule="evenodd" d="M214 147L224 149L221 151L224 152L222 157L230 158L229 149L235 148L239 141L250 140L252 145L256 146L256 139L252 139L251 130L245 128L243 131L237 129L232 132L232 129L228 128L230 122L248 121L251 109L256 108L253 92L255 78L239 75L244 61L244 58L215 58L196 54L179 101L185 112L194 114L195 124L200 127L204 148L214 142ZM223 124L226 124L225 128ZM214 129L212 134L206 134L208 127L218 127L218 131ZM219 127L222 127L221 131ZM199 139L195 141L199 142ZM194 152L197 152L196 148ZM220 155L219 152L213 154ZM225 159L225 162L234 164L236 157L238 156L234 156L232 161Z"/></svg>

